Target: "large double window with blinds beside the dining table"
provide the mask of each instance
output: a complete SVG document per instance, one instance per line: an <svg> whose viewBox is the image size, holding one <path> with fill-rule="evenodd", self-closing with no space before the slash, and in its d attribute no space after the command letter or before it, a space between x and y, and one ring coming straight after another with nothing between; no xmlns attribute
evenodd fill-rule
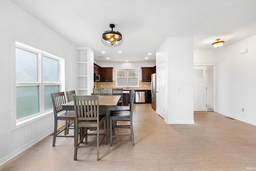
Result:
<svg viewBox="0 0 256 171"><path fill-rule="evenodd" d="M60 92L61 58L16 42L16 125L52 110Z"/></svg>

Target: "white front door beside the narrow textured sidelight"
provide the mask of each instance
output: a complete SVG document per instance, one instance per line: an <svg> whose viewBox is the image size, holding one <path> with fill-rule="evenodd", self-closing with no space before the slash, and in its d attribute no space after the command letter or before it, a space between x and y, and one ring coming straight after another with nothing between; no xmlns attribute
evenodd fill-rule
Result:
<svg viewBox="0 0 256 171"><path fill-rule="evenodd" d="M194 111L206 110L206 66L194 66Z"/></svg>

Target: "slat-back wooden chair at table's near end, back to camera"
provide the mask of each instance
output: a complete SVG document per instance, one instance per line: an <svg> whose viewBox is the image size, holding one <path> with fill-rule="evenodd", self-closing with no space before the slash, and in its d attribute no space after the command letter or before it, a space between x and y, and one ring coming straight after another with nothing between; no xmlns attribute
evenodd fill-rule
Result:
<svg viewBox="0 0 256 171"><path fill-rule="evenodd" d="M84 96L74 96L74 109L75 109L75 129L74 129L74 141L75 141L75 151L74 160L77 159L78 148L86 148L86 146L79 146L83 139L85 139L85 144L87 144L87 128L96 127L97 128L97 160L99 160L99 146L100 143L105 139L106 144L106 115L99 115L99 96L98 95L84 95ZM100 134L100 125L103 123L104 134ZM79 131L80 130L80 131ZM82 134L82 135L81 135ZM78 137L80 135L80 140ZM100 135L102 139L100 140Z"/></svg>

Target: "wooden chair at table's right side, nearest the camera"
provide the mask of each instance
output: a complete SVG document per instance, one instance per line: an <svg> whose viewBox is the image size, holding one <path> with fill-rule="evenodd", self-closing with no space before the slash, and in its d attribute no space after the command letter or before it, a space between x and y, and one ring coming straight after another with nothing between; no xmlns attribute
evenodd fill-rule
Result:
<svg viewBox="0 0 256 171"><path fill-rule="evenodd" d="M110 146L112 146L112 137L124 137L124 136L132 137L132 145L134 145L132 112L133 112L135 93L132 93L131 96L132 96L132 101L130 103L130 110L112 111L112 113L110 114ZM115 121L129 121L130 125L116 125L116 124L113 124ZM113 128L114 128L114 131L113 131ZM115 134L115 129L130 129L130 134Z"/></svg>

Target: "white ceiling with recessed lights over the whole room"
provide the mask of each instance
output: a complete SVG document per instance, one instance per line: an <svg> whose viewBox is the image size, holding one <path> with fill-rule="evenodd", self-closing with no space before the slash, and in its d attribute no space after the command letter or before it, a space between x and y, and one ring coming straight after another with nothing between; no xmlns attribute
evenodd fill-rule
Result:
<svg viewBox="0 0 256 171"><path fill-rule="evenodd" d="M211 45L216 38L225 41L224 47L256 35L256 0L12 2L75 46L91 47L96 61L154 61L156 50L167 37L193 37L194 49L218 50ZM124 39L114 48L101 42L102 33L111 30L112 23Z"/></svg>

